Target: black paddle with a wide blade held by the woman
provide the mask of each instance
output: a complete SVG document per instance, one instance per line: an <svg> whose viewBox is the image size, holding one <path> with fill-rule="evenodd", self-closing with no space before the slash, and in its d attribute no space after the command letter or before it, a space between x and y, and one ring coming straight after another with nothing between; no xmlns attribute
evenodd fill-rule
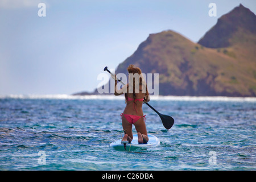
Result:
<svg viewBox="0 0 256 182"><path fill-rule="evenodd" d="M109 72L110 75L112 75L113 77L115 76L112 72L110 72L110 71L108 70L108 67L105 67L105 68L104 68L104 71ZM123 82L122 82L121 80L119 80L118 78L117 78L117 80L120 81L123 85L125 85L125 83L123 83ZM163 126L164 126L167 130L169 130L169 129L172 127L172 125L174 125L174 118L172 118L170 115L161 114L161 113L159 113L157 110L155 110L154 107L152 107L152 106L151 106L150 104L148 104L147 102L145 102L145 104L146 104L148 107L150 107L152 110L154 110L154 111L156 112L156 114L159 115L159 117L161 118L161 121L162 121L162 123L163 123Z"/></svg>

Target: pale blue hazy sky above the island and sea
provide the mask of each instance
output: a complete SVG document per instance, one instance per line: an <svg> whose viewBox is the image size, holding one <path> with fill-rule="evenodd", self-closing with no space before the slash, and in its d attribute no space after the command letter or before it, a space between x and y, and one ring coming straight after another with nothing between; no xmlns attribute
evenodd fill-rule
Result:
<svg viewBox="0 0 256 182"><path fill-rule="evenodd" d="M256 13L255 0L0 0L0 95L92 92L103 69L116 69L150 34L198 42L240 3Z"/></svg>

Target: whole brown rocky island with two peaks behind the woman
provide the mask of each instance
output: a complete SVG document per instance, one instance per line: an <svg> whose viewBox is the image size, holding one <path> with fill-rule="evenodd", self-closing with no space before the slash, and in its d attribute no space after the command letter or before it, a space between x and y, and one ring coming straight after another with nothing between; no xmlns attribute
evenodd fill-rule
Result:
<svg viewBox="0 0 256 182"><path fill-rule="evenodd" d="M130 64L143 73L159 73L164 96L255 97L255 48L256 15L240 5L198 43L171 30L150 34L115 73L126 74Z"/></svg>

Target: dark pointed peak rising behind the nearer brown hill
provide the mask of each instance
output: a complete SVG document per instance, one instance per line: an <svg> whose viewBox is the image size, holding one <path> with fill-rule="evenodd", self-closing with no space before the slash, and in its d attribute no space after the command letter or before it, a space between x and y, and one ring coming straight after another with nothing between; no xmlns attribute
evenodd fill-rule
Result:
<svg viewBox="0 0 256 182"><path fill-rule="evenodd" d="M247 34L254 35L255 39L255 23L255 14L240 4L230 13L221 16L217 24L198 43L209 48L220 48L253 38Z"/></svg>

